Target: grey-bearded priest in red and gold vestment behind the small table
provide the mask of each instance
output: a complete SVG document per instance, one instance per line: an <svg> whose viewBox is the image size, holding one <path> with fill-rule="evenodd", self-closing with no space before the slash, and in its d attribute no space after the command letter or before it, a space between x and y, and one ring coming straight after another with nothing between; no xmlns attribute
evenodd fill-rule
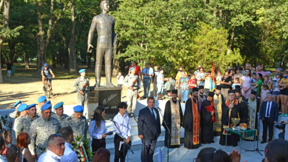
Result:
<svg viewBox="0 0 288 162"><path fill-rule="evenodd" d="M231 122L231 118L238 118L238 114L239 116L241 116L241 114L239 113L240 108L237 106L238 100L235 98L234 90L230 89L228 93L229 93L229 98L222 104L222 119L221 119L222 134L220 136L219 144L225 145L225 140L226 140L225 134L227 134L227 145L232 145L233 147L235 147L237 146L239 136L236 134L224 131L224 128L231 127L233 124Z"/></svg>

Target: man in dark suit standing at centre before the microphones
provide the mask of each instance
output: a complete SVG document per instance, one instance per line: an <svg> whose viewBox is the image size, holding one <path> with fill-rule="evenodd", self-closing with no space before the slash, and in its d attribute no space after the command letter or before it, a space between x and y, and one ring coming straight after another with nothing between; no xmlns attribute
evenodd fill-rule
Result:
<svg viewBox="0 0 288 162"><path fill-rule="evenodd" d="M138 124L142 128L147 138L145 139L143 132L138 127L139 138L142 139L142 151L141 161L142 162L153 162L153 154L156 148L157 138L161 134L160 128L160 116L159 111L154 108L155 99L149 97L147 99L147 107L144 107L139 111ZM150 145L150 143L152 145Z"/></svg>

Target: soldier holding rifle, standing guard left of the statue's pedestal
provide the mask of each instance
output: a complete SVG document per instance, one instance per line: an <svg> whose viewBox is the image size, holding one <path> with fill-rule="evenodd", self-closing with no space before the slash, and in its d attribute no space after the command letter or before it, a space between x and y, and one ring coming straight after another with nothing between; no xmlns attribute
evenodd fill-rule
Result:
<svg viewBox="0 0 288 162"><path fill-rule="evenodd" d="M86 113L87 113L87 106L88 106L88 98L90 95L90 88L89 88L89 79L86 78L86 69L81 69L79 70L79 73L81 75L81 77L77 78L74 85L73 85L73 89L76 90L77 93L77 101L78 101L78 105L82 105L84 107L84 116L86 117ZM87 83L86 88L84 89L84 91L82 91L85 83Z"/></svg>

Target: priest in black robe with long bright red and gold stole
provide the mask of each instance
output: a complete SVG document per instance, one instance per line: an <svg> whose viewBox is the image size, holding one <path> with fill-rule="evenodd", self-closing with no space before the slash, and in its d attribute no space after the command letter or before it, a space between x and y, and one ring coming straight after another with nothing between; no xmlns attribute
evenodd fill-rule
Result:
<svg viewBox="0 0 288 162"><path fill-rule="evenodd" d="M185 103L183 128L185 129L184 147L187 149L197 149L201 146L201 118L197 95L198 88L192 88L191 97Z"/></svg>

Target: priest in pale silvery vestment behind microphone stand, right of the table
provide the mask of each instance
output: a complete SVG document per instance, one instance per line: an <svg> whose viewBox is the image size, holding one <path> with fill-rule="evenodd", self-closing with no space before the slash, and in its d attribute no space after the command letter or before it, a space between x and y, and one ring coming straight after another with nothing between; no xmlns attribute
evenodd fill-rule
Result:
<svg viewBox="0 0 288 162"><path fill-rule="evenodd" d="M257 91L251 91L250 97L246 99L248 106L251 107L255 112L259 112L260 100L256 98ZM258 129L258 114L248 108L249 125L252 129ZM247 137L245 140L254 140L254 137Z"/></svg>

